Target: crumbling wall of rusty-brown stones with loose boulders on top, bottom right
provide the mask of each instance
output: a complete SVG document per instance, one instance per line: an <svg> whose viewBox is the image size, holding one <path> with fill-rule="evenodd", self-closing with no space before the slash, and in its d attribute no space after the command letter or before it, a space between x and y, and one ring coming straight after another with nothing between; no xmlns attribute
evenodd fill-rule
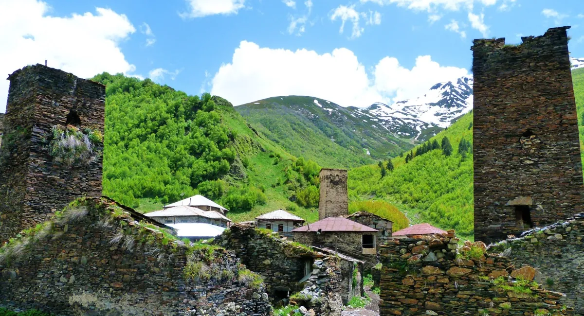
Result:
<svg viewBox="0 0 584 316"><path fill-rule="evenodd" d="M514 269L484 243L459 252L453 235L417 237L381 247L381 315L573 315L565 294L531 282L533 268Z"/></svg>

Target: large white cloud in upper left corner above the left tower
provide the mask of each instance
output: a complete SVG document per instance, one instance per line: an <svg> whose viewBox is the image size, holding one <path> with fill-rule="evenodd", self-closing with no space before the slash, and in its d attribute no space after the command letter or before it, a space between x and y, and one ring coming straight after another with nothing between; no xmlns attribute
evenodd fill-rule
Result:
<svg viewBox="0 0 584 316"><path fill-rule="evenodd" d="M131 73L119 43L135 32L126 15L96 8L68 17L50 16L37 0L0 1L0 73L44 64L90 78L101 72ZM5 111L8 80L0 80L0 112Z"/></svg>

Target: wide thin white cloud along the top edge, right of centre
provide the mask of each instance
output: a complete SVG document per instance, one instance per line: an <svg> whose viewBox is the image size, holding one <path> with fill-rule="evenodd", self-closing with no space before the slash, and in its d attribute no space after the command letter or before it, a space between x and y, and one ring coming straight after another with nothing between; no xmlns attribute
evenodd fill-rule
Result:
<svg viewBox="0 0 584 316"><path fill-rule="evenodd" d="M373 2L378 5L404 6L408 9L433 12L437 9L443 8L446 10L460 10L466 8L472 10L474 3L479 3L485 6L494 5L497 0L360 0L361 3Z"/></svg>

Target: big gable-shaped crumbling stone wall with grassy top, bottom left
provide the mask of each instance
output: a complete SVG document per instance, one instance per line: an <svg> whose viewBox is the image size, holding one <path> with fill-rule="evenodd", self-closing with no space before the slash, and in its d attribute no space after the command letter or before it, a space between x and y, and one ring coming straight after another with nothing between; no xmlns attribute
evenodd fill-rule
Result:
<svg viewBox="0 0 584 316"><path fill-rule="evenodd" d="M221 247L187 246L100 198L0 250L0 306L55 315L268 315L258 276Z"/></svg>

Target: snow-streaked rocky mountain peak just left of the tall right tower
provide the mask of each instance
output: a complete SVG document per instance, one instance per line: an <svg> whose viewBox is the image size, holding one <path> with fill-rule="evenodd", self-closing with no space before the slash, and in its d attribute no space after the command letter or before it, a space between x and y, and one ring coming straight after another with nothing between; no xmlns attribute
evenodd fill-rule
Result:
<svg viewBox="0 0 584 316"><path fill-rule="evenodd" d="M469 77L436 83L416 99L391 106L374 103L364 112L378 118L381 125L396 135L423 141L472 109L472 83Z"/></svg>

